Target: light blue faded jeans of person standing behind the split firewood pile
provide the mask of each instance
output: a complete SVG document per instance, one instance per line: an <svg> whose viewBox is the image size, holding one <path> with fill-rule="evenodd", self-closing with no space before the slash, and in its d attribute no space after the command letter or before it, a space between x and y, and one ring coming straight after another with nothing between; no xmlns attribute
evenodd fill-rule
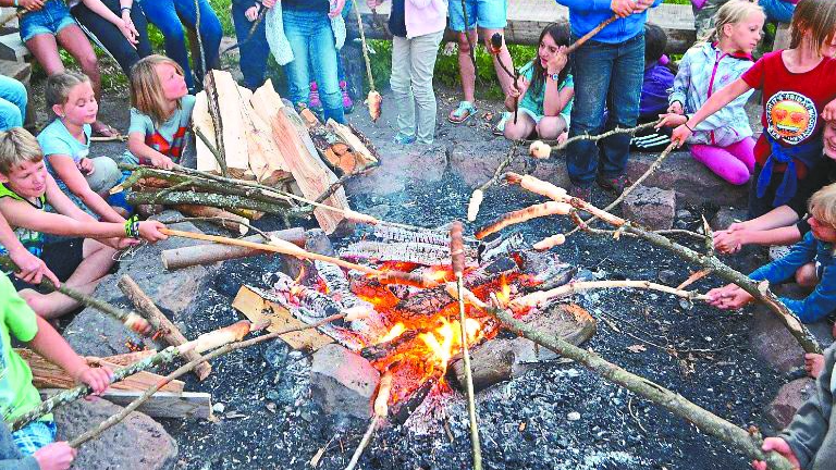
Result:
<svg viewBox="0 0 836 470"><path fill-rule="evenodd" d="M336 77L336 47L331 20L323 13L285 10L282 12L282 21L294 57L284 66L291 102L308 102L311 78L308 64L314 62L314 78L319 86L325 121L333 119L344 123L343 95Z"/></svg>

